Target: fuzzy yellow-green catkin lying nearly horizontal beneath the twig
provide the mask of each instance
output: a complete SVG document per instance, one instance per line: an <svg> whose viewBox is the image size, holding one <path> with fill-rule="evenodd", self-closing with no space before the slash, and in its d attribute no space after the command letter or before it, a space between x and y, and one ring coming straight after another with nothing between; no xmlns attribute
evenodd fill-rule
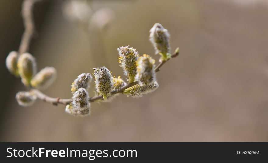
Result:
<svg viewBox="0 0 268 163"><path fill-rule="evenodd" d="M132 86L123 91L128 97L132 95L132 97L142 97L143 94L148 94L155 91L159 87L158 83L155 81L153 84L147 86L140 86L139 84Z"/></svg>

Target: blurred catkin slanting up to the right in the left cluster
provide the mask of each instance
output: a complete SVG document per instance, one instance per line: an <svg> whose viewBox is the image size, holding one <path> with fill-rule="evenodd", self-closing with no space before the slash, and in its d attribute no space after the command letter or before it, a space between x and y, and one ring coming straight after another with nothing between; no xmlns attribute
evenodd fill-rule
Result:
<svg viewBox="0 0 268 163"><path fill-rule="evenodd" d="M56 79L57 71L54 67L45 67L31 80L31 86L39 90L48 88Z"/></svg>

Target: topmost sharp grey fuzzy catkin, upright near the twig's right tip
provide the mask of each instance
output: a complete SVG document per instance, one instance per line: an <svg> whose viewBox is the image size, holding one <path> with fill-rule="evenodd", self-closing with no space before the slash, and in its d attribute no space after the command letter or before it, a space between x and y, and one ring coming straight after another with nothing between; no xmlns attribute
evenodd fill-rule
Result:
<svg viewBox="0 0 268 163"><path fill-rule="evenodd" d="M168 60L171 57L169 45L169 33L160 23L155 23L150 29L150 41L152 42L156 54L160 54L161 60Z"/></svg>

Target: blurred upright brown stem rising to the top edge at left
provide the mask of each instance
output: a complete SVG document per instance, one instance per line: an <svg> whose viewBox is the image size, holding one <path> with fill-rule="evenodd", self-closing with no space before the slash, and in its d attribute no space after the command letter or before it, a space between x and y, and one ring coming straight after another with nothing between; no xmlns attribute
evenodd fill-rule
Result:
<svg viewBox="0 0 268 163"><path fill-rule="evenodd" d="M35 32L35 26L33 22L33 4L40 0L24 0L22 4L22 18L24 24L24 33L19 45L19 54L25 53L29 50L32 36Z"/></svg>

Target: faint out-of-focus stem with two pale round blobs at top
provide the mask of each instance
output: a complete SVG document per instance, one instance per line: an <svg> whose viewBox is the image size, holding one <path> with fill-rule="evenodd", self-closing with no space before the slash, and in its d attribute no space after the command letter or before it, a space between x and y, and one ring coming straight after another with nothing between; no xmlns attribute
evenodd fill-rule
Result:
<svg viewBox="0 0 268 163"><path fill-rule="evenodd" d="M85 32L94 62L109 65L105 52L105 32L114 19L114 11L111 8L95 11L92 0L67 0L62 12L66 20Z"/></svg>

